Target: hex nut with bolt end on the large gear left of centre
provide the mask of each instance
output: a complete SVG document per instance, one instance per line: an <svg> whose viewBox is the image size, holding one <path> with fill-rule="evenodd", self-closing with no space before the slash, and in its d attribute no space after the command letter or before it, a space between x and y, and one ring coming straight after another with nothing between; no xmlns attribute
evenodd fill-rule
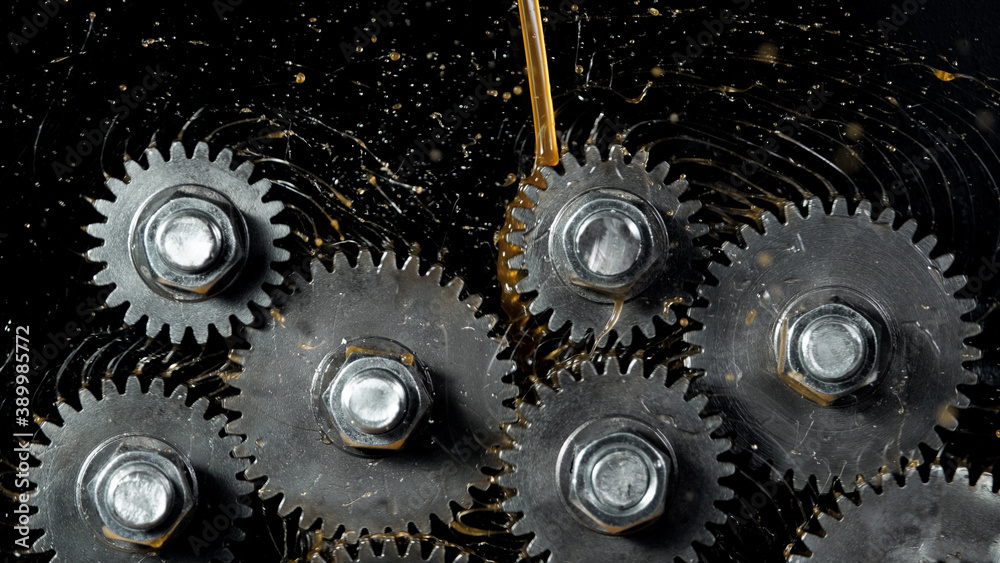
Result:
<svg viewBox="0 0 1000 563"><path fill-rule="evenodd" d="M323 406L344 446L392 452L403 448L433 403L410 357L353 352L323 391Z"/></svg>

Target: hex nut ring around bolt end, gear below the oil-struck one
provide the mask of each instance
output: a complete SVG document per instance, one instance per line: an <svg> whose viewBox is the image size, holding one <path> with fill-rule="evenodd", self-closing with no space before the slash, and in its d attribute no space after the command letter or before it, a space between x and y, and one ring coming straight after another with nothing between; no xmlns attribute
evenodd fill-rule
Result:
<svg viewBox="0 0 1000 563"><path fill-rule="evenodd" d="M630 452L630 457L641 459L645 465L647 485L632 506L614 509L598 500L599 493L593 487L593 470L609 452ZM621 535L663 515L669 477L670 460L663 451L632 432L615 432L577 447L569 501L590 519L584 522L588 527L609 535Z"/></svg>

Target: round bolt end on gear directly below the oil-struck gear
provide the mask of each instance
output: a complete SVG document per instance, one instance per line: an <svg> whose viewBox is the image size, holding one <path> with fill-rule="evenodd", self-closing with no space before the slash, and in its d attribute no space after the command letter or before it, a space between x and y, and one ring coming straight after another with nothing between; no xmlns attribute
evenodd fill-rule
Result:
<svg viewBox="0 0 1000 563"><path fill-rule="evenodd" d="M649 490L649 460L631 449L601 455L591 472L597 500L611 510L625 510L639 503Z"/></svg>

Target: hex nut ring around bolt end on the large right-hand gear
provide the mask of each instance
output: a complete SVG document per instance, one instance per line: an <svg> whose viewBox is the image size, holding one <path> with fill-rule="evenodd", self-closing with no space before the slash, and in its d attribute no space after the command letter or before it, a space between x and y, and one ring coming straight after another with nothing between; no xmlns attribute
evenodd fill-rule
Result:
<svg viewBox="0 0 1000 563"><path fill-rule="evenodd" d="M793 345L801 337L802 330L812 319L830 312L858 319L863 325L862 332L871 333L870 335L866 334L871 339L869 344L871 349L867 350L867 357L858 368L856 375L845 378L843 381L823 381L810 376L802 367L797 346ZM837 399L870 385L877 379L878 371L875 369L877 349L874 342L874 329L869 321L845 305L828 303L810 310L795 311L787 317L784 326L778 327L776 348L779 354L783 354L779 374L787 385L804 397L823 406L830 405Z"/></svg>

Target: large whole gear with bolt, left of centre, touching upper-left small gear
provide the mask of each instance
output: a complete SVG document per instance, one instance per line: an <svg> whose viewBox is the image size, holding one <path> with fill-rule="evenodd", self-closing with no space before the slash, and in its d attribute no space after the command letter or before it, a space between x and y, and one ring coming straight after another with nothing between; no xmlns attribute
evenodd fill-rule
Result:
<svg viewBox="0 0 1000 563"><path fill-rule="evenodd" d="M514 416L495 318L459 299L461 280L442 287L440 266L418 266L367 251L356 267L338 253L332 272L314 262L311 282L293 276L278 326L248 331L241 392L225 400L243 413L228 431L248 438L235 454L255 459L248 478L267 477L261 496L283 495L279 512L301 508L304 526L322 519L326 537L449 521Z"/></svg>

